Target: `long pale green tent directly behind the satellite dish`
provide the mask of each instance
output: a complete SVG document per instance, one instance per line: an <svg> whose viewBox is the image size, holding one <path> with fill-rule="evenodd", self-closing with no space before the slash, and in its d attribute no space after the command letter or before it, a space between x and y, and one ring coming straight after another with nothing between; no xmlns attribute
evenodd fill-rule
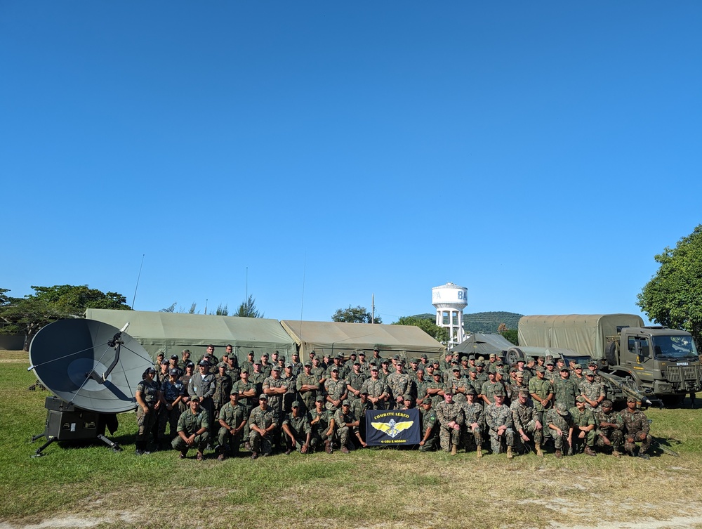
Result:
<svg viewBox="0 0 702 529"><path fill-rule="evenodd" d="M296 351L295 344L278 320L99 308L88 308L86 318L109 323L118 329L129 322L126 333L154 358L159 352L166 356L180 356L183 349L190 349L192 358L197 360L209 344L216 347L218 358L222 356L224 346L231 344L239 362L246 360L249 351L254 351L256 358L276 350L291 358Z"/></svg>

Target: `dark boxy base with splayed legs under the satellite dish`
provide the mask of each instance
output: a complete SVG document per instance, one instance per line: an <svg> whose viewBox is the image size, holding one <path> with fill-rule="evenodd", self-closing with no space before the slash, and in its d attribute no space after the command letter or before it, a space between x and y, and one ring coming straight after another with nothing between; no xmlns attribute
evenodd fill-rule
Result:
<svg viewBox="0 0 702 529"><path fill-rule="evenodd" d="M44 455L42 453L44 449L57 440L85 441L99 439L112 448L114 452L121 451L119 444L105 437L105 426L110 426L111 431L117 429L117 417L114 413L81 410L81 408L67 404L56 397L47 397L44 407L46 407L46 428L44 433L32 437L32 440L45 437L46 443L41 445L32 457Z"/></svg>

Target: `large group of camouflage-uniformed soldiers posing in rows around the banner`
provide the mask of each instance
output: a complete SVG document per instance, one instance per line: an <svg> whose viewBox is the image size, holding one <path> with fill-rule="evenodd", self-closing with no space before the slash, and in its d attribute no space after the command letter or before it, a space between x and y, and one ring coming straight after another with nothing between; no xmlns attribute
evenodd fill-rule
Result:
<svg viewBox="0 0 702 529"><path fill-rule="evenodd" d="M239 364L232 346L222 358L214 346L197 361L190 351L157 358L144 373L135 398L138 403L137 454L149 451L152 437L186 457L197 459L213 448L217 458L251 458L274 452L289 455L339 449L343 453L366 447L366 411L420 411L420 452L459 450L482 457L489 445L494 453L535 452L543 457L551 445L555 457L597 452L648 459L649 422L630 398L616 412L597 374L597 363L563 363L550 357L525 358L505 365L501 355L460 360L446 353L443 360L427 355L406 361L383 358L376 348L300 362L251 351ZM168 426L168 435L166 427ZM487 440L489 439L489 443Z"/></svg>

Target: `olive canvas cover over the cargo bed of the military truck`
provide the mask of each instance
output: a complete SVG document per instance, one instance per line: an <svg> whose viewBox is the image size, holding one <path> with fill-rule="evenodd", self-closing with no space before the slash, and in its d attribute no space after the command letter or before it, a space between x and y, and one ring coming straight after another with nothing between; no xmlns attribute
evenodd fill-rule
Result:
<svg viewBox="0 0 702 529"><path fill-rule="evenodd" d="M617 327L643 327L635 314L534 315L519 320L519 344L573 349L592 358L604 358L607 337Z"/></svg>

